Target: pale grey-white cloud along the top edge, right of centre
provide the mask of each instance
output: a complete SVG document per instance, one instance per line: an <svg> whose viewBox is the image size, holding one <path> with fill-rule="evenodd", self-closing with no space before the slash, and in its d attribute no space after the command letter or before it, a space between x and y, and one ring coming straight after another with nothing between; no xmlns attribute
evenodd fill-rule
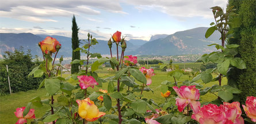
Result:
<svg viewBox="0 0 256 124"><path fill-rule="evenodd" d="M226 7L227 0L126 0L123 1L129 5L134 5L139 11L158 10L175 17L204 17L212 18L212 12L209 9L212 6Z"/></svg>

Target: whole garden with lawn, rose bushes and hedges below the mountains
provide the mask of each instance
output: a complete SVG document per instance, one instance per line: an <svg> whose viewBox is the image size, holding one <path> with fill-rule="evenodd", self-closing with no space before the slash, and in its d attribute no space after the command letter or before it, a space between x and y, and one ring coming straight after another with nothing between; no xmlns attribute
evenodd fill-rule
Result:
<svg viewBox="0 0 256 124"><path fill-rule="evenodd" d="M125 56L127 42L119 31L106 46L111 57L90 51L98 44L90 33L81 41L82 47L72 46L73 53L84 54L86 59L73 59L72 68L77 69L71 74L60 69L65 68L63 57L55 61L62 42L53 37L38 44L43 61L28 65L29 54L7 54L6 60L24 57L23 66L14 69L13 75L22 69L32 71L20 75L28 86L17 83L16 93L0 96L0 123L255 123L255 49L251 49L256 40L255 11L249 1L242 2L239 10L236 4L231 1L226 11L211 8L215 20L205 37L219 32L221 42L209 44L216 51L195 61L211 63L201 71L181 69L172 60L159 63L159 69L139 65L136 56ZM89 63L90 59L97 60ZM104 67L105 63L110 67ZM81 65L85 69L79 69ZM8 84L0 85L0 93L7 94Z"/></svg>

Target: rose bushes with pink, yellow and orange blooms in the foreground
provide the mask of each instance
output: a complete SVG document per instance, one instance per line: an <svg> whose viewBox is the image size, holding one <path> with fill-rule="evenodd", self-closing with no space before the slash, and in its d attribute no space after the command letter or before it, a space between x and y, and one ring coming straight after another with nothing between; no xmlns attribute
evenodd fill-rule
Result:
<svg viewBox="0 0 256 124"><path fill-rule="evenodd" d="M228 26L235 22L228 22L228 15L232 14L234 9L227 8L223 13L220 7L212 7L215 18L219 18L207 30L205 37L209 37L215 30L221 32L222 45L215 45L221 52L213 52L202 55L200 61L207 63L217 63L217 68L207 69L204 72L193 75L192 80L185 80L178 83L179 78L184 71L172 69L168 73L174 78L174 83L165 81L161 83L161 96L166 98L164 103L156 104L150 98L144 98L143 92L152 91L150 85L152 76L155 75L152 68L137 68L136 56L124 56L127 44L124 38L121 38L121 32L117 31L108 41L111 57L102 57L99 53L91 53L90 47L97 44L97 40L88 33L88 38L82 48L75 51L81 51L87 55L86 60L74 60L72 63L83 65L86 62L86 69L73 74L68 78L61 78L59 66L54 64L56 55L61 48L61 44L51 37L39 42L43 52L44 63L34 68L29 75L40 77L46 75L47 78L41 82L40 87L44 86L51 99L41 100L35 97L26 107L17 108L15 115L17 123L244 123L256 122L256 97L248 96L246 105L243 106L248 118L243 119L240 103L236 102L235 96L241 91L235 87L222 86L221 78L228 75L230 66L243 69L246 68L243 60L236 55L238 45L226 45L224 41L230 34ZM113 41L112 41L113 40ZM113 45L114 44L114 45ZM112 47L116 47L117 56L112 55ZM119 49L121 48L121 54ZM52 59L52 54L55 54ZM119 56L120 54L120 56ZM97 57L98 60L89 64L89 59ZM61 63L62 61L60 61ZM114 76L102 79L95 72L102 64L109 62L113 70L117 70ZM169 64L171 65L171 63ZM161 68L167 65L160 65ZM57 69L57 68L58 69ZM56 68L56 69L55 69ZM89 69L91 68L91 69ZM217 73L217 78L212 78L211 73ZM77 86L68 83L68 80L75 80ZM219 85L202 88L200 83L219 81ZM107 83L106 89L90 92L89 87L102 87L102 83ZM39 87L39 88L40 88ZM201 103L200 96L207 92L218 96L212 102ZM55 99L54 99L55 98ZM57 99L56 99L57 98ZM228 103L231 102L231 103ZM114 104L112 106L112 104ZM31 106L49 106L51 109L46 111L45 115L37 118ZM154 107L157 107L155 109ZM242 117L243 116L243 117ZM34 120L31 120L34 119Z"/></svg>

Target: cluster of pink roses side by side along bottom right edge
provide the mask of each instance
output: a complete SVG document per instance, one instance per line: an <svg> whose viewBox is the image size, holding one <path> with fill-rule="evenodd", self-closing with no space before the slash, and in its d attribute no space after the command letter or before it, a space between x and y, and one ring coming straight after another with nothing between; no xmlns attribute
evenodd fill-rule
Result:
<svg viewBox="0 0 256 124"><path fill-rule="evenodd" d="M195 119L201 124L243 124L244 120L241 117L242 111L239 106L239 102L224 102L220 106L217 106L216 104L207 104L201 107L198 113L194 113L192 119Z"/></svg>

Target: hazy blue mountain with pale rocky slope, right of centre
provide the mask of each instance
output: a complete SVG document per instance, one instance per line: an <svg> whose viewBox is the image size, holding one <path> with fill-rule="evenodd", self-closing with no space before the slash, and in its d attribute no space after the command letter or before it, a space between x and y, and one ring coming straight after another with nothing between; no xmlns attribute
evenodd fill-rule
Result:
<svg viewBox="0 0 256 124"><path fill-rule="evenodd" d="M203 54L214 51L214 47L207 45L220 43L220 34L215 32L211 37L205 38L208 28L194 28L176 32L165 38L158 38L142 45L132 55L188 55Z"/></svg>

